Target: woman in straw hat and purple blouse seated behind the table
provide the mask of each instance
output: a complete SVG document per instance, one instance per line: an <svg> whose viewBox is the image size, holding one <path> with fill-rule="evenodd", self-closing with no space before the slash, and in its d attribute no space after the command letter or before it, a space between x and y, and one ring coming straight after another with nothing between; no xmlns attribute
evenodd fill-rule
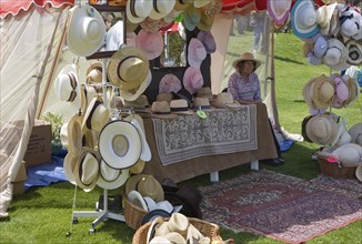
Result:
<svg viewBox="0 0 362 244"><path fill-rule="evenodd" d="M255 70L260 64L261 62L254 59L254 55L249 52L242 53L241 57L232 63L235 72L233 72L229 78L228 92L230 92L233 99L239 101L241 104L262 102L259 77L255 73ZM270 121L269 124L271 126ZM284 160L282 159L280 146L272 126L271 130L278 152L278 159L270 159L261 162L270 165L280 165L284 163Z"/></svg>

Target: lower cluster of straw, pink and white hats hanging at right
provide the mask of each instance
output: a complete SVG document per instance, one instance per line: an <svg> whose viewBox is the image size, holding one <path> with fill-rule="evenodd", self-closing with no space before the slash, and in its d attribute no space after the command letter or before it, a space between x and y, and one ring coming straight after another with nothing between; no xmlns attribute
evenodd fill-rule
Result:
<svg viewBox="0 0 362 244"><path fill-rule="evenodd" d="M303 119L302 135L306 142L323 146L323 152L333 156L333 162L356 166L362 181L362 123L346 126L344 119L328 109L350 106L359 96L356 81L348 75L333 73L311 79L303 88L303 98L311 115Z"/></svg>

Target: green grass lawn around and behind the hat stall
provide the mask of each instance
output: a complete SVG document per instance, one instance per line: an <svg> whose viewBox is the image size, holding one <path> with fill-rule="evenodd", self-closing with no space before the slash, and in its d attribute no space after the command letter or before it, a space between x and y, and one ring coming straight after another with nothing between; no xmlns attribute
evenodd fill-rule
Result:
<svg viewBox="0 0 362 244"><path fill-rule="evenodd" d="M245 37L232 37L227 60L235 59L232 53L241 53L239 48L244 39L252 40L251 33ZM330 74L324 65L308 64L302 57L302 42L292 33L275 34L275 81L276 98L281 125L291 133L301 133L301 122L309 115L308 106L303 102L302 88L312 78L322 73ZM348 128L361 121L361 95L359 101L346 109L333 110L342 115ZM311 160L312 152L318 145L308 142L296 142L291 150L283 153L285 164L271 167L261 164L261 167L279 173L313 179L320 174L316 161ZM220 172L222 180L248 173L249 165L238 166ZM201 175L182 184L209 184L209 175ZM29 190L24 195L16 196L9 207L11 220L0 222L0 243L131 243L133 231L125 224L108 221L98 225L94 234L89 234L93 218L80 218L78 224L71 225L73 197L77 193L76 210L94 210L94 203L102 193L95 189L90 193L81 190L74 192L74 186L68 182L52 184L48 187ZM114 191L110 192L111 195ZM70 238L66 233L71 231ZM308 243L361 243L362 221L354 222L336 231L318 236ZM248 233L233 233L221 230L221 236L227 240L233 237L235 243L281 243L264 236Z"/></svg>

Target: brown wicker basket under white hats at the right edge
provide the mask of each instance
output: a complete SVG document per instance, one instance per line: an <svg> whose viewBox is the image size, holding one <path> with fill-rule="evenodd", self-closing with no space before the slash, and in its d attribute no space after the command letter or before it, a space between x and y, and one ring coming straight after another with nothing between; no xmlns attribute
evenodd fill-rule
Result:
<svg viewBox="0 0 362 244"><path fill-rule="evenodd" d="M341 163L330 163L326 161L328 153L316 152L316 157L322 174L331 177L355 177L355 166L343 166Z"/></svg>

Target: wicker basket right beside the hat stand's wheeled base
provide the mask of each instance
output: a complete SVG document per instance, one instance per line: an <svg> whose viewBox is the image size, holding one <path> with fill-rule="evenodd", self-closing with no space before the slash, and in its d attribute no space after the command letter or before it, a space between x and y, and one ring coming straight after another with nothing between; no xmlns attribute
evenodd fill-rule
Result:
<svg viewBox="0 0 362 244"><path fill-rule="evenodd" d="M148 212L131 203L127 196L123 196L123 199L125 224L133 230L138 230L142 225L142 218Z"/></svg>

